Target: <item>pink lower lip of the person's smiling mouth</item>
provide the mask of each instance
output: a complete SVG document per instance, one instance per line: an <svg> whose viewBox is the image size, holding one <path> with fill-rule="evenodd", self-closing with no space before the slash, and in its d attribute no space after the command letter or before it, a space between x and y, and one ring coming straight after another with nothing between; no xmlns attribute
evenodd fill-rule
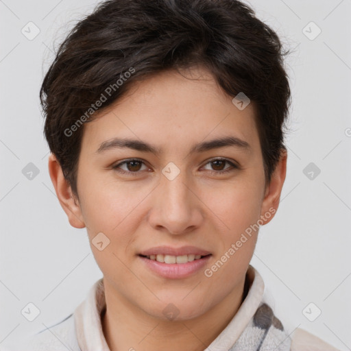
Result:
<svg viewBox="0 0 351 351"><path fill-rule="evenodd" d="M138 257L141 258L149 269L159 276L169 279L181 279L189 277L197 273L200 269L203 269L206 263L208 263L210 256L212 255L204 256L203 258L187 263L162 263L143 256Z"/></svg>

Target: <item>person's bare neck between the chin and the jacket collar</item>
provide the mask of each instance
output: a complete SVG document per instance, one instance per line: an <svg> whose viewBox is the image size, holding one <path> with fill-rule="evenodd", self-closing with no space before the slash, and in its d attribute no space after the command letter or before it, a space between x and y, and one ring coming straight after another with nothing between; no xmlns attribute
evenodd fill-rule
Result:
<svg viewBox="0 0 351 351"><path fill-rule="evenodd" d="M184 321L157 319L105 286L106 310L101 324L110 351L203 351L226 328L247 294L243 280L206 313Z"/></svg>

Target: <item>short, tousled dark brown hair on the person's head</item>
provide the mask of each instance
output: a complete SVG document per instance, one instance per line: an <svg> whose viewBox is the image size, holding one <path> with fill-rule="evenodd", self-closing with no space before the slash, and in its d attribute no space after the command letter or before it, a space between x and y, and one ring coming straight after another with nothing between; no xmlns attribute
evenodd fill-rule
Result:
<svg viewBox="0 0 351 351"><path fill-rule="evenodd" d="M84 125L79 127L92 120L97 108L92 104L104 95L101 112L137 80L201 64L226 93L243 92L254 102L270 182L285 149L290 89L282 58L287 53L274 30L241 1L104 1L73 27L45 75L40 88L45 138L77 196Z"/></svg>

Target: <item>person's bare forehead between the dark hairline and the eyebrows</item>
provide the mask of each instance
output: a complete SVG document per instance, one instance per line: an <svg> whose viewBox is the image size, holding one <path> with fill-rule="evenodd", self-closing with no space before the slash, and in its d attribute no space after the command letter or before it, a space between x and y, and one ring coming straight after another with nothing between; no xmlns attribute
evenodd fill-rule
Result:
<svg viewBox="0 0 351 351"><path fill-rule="evenodd" d="M149 141L159 150L179 149L216 136L234 136L258 147L255 107L239 110L204 69L165 71L136 82L84 125L82 147L94 147L116 136Z"/></svg>

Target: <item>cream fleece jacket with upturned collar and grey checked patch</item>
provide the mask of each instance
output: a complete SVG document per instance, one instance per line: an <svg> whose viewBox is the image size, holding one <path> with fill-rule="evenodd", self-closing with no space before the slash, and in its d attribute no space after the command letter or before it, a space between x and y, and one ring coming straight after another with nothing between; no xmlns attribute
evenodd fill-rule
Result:
<svg viewBox="0 0 351 351"><path fill-rule="evenodd" d="M263 300L263 279L251 265L247 270L247 279L250 289L237 314L205 351L338 351L300 328L287 335L279 319ZM86 300L77 306L74 313L49 329L32 335L25 351L110 351L101 327L100 315L105 306L101 278L91 287ZM265 330L262 324L267 322L267 313L271 326Z"/></svg>

